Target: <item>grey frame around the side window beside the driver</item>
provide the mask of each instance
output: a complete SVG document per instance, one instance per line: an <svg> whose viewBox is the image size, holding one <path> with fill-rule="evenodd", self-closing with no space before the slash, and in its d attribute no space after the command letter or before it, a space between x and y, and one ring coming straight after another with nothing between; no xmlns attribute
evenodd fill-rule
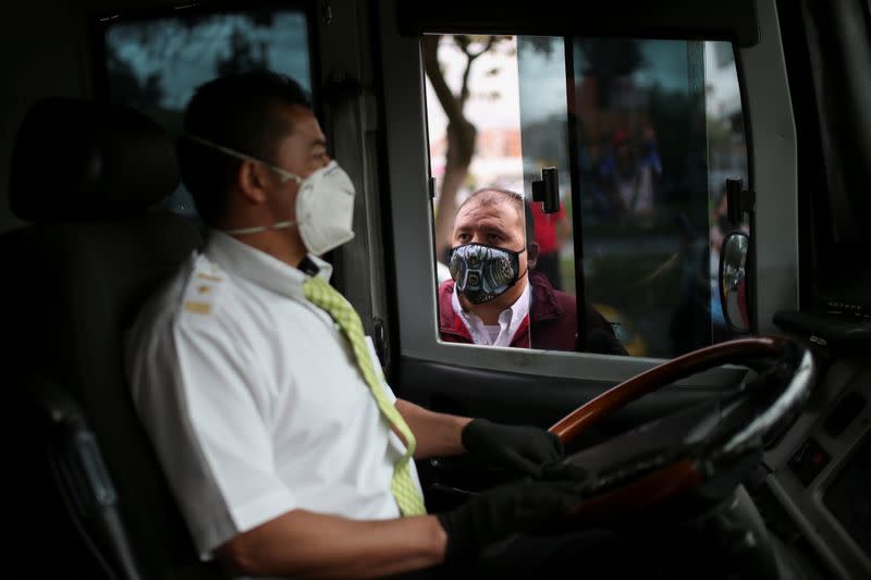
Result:
<svg viewBox="0 0 871 580"><path fill-rule="evenodd" d="M381 22L394 22L396 5L380 7ZM559 8L557 8L559 10ZM783 50L774 0L758 3L761 39L755 46L737 46L735 60L741 92L748 147L749 184L757 195L755 229L757 280L756 309L759 333L774 332L774 311L798 305L798 217L795 126L792 116ZM522 34L504 28L504 34ZM431 33L461 32L431 29ZM475 32L475 23L464 33ZM557 30L551 36L563 36ZM536 34L547 35L545 30ZM433 221L429 182L429 151L425 79L420 37L403 36L383 27L380 32L383 71L387 180L391 192L392 258L395 272L398 355L463 367L513 371L525 374L609 382L626 380L659 365L662 359L615 357L586 353L456 345L438 338L437 276L433 259ZM641 36L639 36L641 37ZM711 40L728 40L710 36ZM400 89L402 87L402 89ZM784 107L786 104L786 107ZM782 162L764 165L774 152ZM778 227L764 227L778 224ZM784 238L788 238L784 243ZM678 384L725 386L743 375L737 367L712 369Z"/></svg>

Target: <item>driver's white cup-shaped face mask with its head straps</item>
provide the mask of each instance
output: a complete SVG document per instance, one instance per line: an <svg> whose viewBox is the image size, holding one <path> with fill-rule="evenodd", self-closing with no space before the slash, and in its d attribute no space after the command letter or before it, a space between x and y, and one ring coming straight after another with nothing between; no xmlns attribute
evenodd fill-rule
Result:
<svg viewBox="0 0 871 580"><path fill-rule="evenodd" d="M306 249L315 256L321 256L354 237L352 222L354 220L354 196L356 190L354 189L354 184L351 183L351 177L335 161L330 161L326 166L303 178L235 149L223 147L191 134L185 135L185 137L231 157L262 163L278 173L282 183L293 180L299 184L299 190L296 193L295 221L225 230L224 233L245 235L296 225L299 229L299 237L303 238Z"/></svg>

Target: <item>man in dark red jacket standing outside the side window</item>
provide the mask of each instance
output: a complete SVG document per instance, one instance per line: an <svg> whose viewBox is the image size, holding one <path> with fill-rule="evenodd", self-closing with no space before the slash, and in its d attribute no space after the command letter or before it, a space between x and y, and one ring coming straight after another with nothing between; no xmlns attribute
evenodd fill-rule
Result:
<svg viewBox="0 0 871 580"><path fill-rule="evenodd" d="M479 189L463 202L454 219L452 280L439 286L442 341L579 350L576 299L536 271L533 227L515 192ZM611 324L589 305L586 322L589 336L602 343L593 350L626 354Z"/></svg>

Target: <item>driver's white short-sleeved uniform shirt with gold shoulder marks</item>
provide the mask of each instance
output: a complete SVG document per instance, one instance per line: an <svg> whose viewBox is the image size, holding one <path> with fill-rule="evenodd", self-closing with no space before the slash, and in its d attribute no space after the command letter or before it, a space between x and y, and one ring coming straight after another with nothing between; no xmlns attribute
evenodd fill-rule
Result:
<svg viewBox="0 0 871 580"><path fill-rule="evenodd" d="M405 446L307 279L213 232L130 333L133 400L203 558L296 508L400 516L390 482Z"/></svg>

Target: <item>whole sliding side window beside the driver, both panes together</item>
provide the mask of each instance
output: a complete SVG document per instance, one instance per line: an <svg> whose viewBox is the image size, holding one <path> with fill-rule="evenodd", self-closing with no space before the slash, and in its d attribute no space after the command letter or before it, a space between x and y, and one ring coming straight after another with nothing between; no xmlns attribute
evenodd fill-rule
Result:
<svg viewBox="0 0 871 580"><path fill-rule="evenodd" d="M667 358L732 337L716 294L717 249L729 229L725 180L747 182L747 152L731 44L422 42L442 341ZM553 212L533 200L549 168ZM457 208L486 187L524 198L523 307L481 307L461 289L469 272L507 272L512 282L511 255L466 251L450 268L451 248L480 242L456 236L468 218ZM506 340L507 331L516 334Z"/></svg>

